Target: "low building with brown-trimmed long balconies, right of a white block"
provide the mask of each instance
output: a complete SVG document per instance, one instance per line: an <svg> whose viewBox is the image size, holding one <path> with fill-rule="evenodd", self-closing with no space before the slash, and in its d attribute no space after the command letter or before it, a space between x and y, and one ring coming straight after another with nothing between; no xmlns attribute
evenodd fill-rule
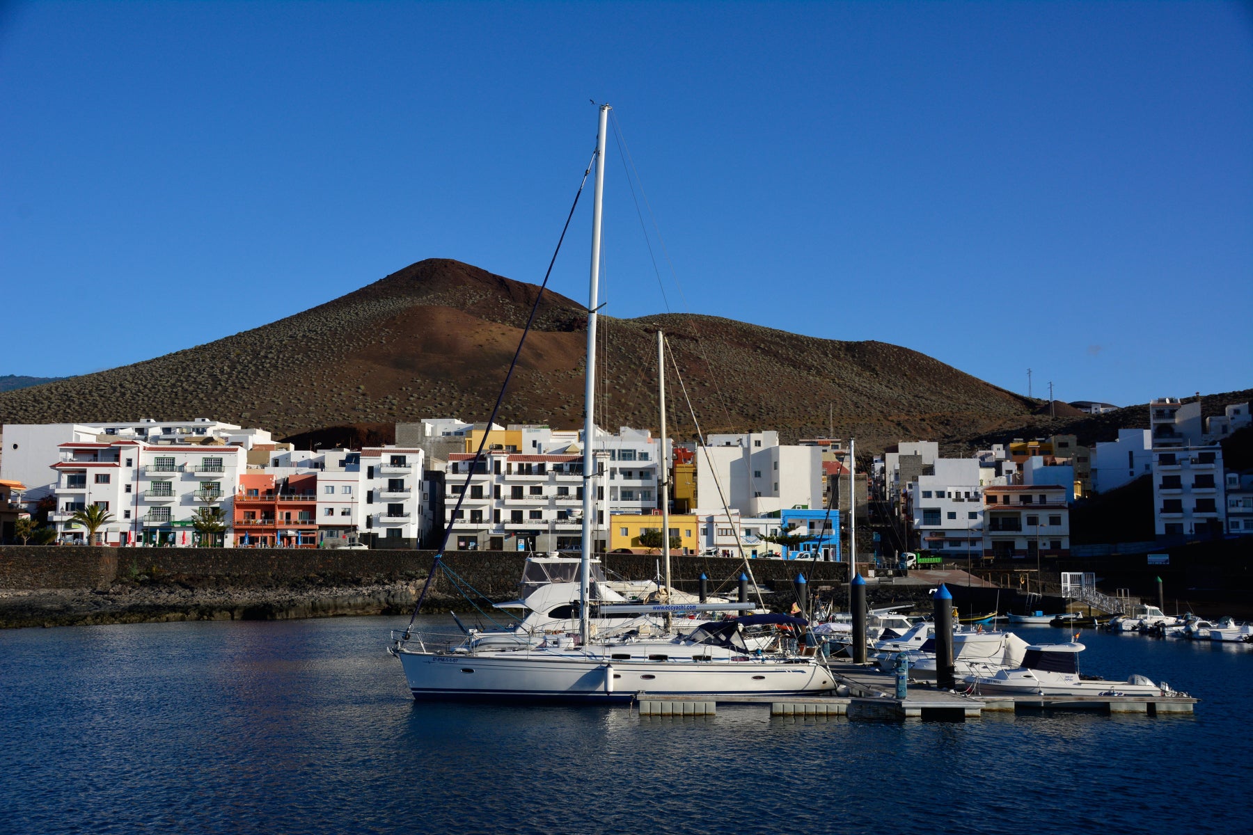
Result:
<svg viewBox="0 0 1253 835"><path fill-rule="evenodd" d="M1065 488L1051 484L985 487L984 556L1015 560L1070 556L1070 508Z"/></svg>

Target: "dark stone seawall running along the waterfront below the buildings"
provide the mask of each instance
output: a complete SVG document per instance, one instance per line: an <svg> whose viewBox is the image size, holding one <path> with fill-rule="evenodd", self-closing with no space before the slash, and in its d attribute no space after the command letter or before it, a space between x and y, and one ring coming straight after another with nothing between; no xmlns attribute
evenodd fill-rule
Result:
<svg viewBox="0 0 1253 835"><path fill-rule="evenodd" d="M277 620L402 613L412 608L434 561L431 551L297 548L0 547L0 627L129 623L182 620ZM524 553L452 552L445 567L492 602L517 593ZM652 580L659 557L608 555L624 580ZM804 573L812 593L838 593L842 563L752 561L767 605L788 606L792 581ZM743 563L722 557L673 557L677 588L734 596ZM838 593L843 598L842 593ZM429 606L466 611L439 572Z"/></svg>

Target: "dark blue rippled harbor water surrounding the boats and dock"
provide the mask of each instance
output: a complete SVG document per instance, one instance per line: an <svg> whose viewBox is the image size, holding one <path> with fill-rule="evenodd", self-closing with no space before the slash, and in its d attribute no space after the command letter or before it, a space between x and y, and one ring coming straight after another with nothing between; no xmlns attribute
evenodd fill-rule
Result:
<svg viewBox="0 0 1253 835"><path fill-rule="evenodd" d="M1083 631L1194 715L663 719L416 704L406 621L0 632L0 832L1253 831L1253 646Z"/></svg>

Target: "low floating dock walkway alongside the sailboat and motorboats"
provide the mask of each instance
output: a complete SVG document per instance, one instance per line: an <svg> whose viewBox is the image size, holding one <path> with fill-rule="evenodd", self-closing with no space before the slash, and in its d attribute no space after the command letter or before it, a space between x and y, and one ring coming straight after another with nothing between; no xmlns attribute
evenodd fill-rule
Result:
<svg viewBox="0 0 1253 835"><path fill-rule="evenodd" d="M1190 696L977 696L911 684L896 697L896 676L876 667L832 662L836 684L847 695L816 696L669 696L639 694L640 716L712 716L718 705L769 705L772 716L843 716L850 720L920 719L964 722L984 711L1091 710L1108 714L1190 714L1200 701Z"/></svg>

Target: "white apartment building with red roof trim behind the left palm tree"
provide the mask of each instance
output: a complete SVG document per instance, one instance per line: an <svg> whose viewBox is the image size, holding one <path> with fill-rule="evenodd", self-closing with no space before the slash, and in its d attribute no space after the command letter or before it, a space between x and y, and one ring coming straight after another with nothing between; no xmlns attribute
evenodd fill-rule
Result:
<svg viewBox="0 0 1253 835"><path fill-rule="evenodd" d="M51 521L65 541L83 541L70 522L89 505L113 515L103 527L104 545L193 545L192 517L202 507L223 512L229 528L232 499L247 452L223 443L170 444L138 439L66 442L58 446ZM231 545L231 531L227 531Z"/></svg>

